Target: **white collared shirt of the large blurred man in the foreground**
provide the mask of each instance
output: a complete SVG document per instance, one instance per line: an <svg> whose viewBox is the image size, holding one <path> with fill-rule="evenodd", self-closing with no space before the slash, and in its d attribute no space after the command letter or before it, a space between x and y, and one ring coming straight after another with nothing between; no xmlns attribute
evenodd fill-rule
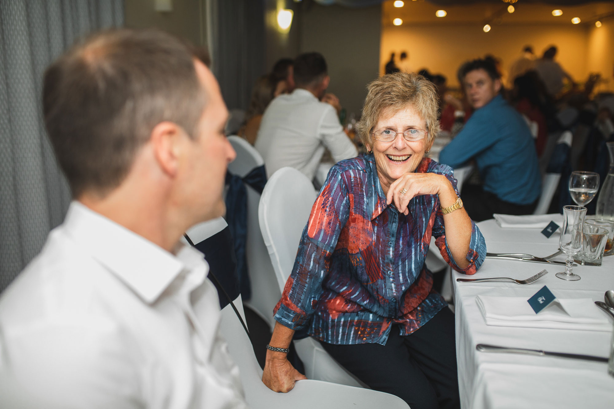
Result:
<svg viewBox="0 0 614 409"><path fill-rule="evenodd" d="M175 256L73 202L0 297L0 368L18 388L13 399L246 407L208 269L195 249Z"/></svg>

